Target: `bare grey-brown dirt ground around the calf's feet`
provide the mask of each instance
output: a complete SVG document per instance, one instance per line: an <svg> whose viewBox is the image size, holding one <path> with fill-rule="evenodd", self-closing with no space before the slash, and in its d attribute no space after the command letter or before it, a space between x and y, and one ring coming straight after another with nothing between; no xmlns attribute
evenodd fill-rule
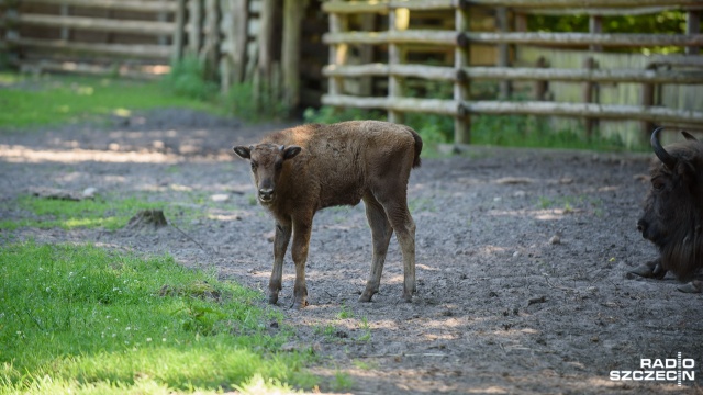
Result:
<svg viewBox="0 0 703 395"><path fill-rule="evenodd" d="M107 125L3 133L0 199L9 207L35 187L93 187L171 202L164 210L175 226L3 230L0 242L33 238L168 252L185 266L266 290L274 224L254 203L249 167L231 147L284 126L163 110ZM395 239L380 294L357 303L371 259L362 204L317 213L311 305L303 311L288 308L290 252L283 269L275 308L298 329L286 348L322 356L313 373L323 377L323 391L703 394L703 295L677 291L672 278L626 276L656 256L635 227L649 157L472 147L424 159L409 185L417 225L417 294L410 304L401 301ZM610 380L611 371L641 370L641 358L678 352L695 363L689 370L695 380L682 386Z"/></svg>

